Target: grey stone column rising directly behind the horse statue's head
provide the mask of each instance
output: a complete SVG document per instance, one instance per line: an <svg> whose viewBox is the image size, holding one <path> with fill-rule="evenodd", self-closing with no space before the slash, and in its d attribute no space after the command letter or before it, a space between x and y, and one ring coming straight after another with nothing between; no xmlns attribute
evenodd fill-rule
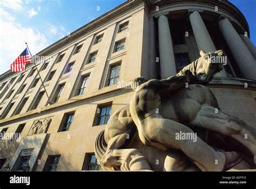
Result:
<svg viewBox="0 0 256 189"><path fill-rule="evenodd" d="M199 12L195 10L190 14L189 17L190 17L190 23L194 33L194 37L196 38L199 52L202 49L205 52L215 52L216 51L215 46L212 42L212 39L207 31L207 28ZM224 70L221 70L215 76L227 77L226 72Z"/></svg>

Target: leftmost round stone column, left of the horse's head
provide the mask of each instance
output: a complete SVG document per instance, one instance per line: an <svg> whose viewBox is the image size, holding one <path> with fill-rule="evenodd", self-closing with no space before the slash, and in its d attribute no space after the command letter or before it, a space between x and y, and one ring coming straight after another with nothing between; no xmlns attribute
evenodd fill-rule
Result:
<svg viewBox="0 0 256 189"><path fill-rule="evenodd" d="M161 15L158 18L158 38L161 79L166 79L176 75L177 71L169 22L165 15Z"/></svg>

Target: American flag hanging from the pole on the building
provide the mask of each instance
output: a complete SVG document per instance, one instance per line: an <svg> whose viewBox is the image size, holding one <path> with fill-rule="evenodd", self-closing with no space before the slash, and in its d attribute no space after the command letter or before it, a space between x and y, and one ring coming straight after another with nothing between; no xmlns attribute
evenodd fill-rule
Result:
<svg viewBox="0 0 256 189"><path fill-rule="evenodd" d="M11 63L11 71L25 71L26 70L26 63L30 63L30 56L28 48L26 48L21 55Z"/></svg>

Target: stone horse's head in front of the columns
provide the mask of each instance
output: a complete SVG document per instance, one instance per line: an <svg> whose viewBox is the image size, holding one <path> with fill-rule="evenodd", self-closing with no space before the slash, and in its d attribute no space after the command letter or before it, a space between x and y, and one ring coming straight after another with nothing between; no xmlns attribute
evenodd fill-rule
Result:
<svg viewBox="0 0 256 189"><path fill-rule="evenodd" d="M208 52L201 50L200 58L197 61L196 77L198 82L207 85L214 75L223 69L222 57L223 51Z"/></svg>

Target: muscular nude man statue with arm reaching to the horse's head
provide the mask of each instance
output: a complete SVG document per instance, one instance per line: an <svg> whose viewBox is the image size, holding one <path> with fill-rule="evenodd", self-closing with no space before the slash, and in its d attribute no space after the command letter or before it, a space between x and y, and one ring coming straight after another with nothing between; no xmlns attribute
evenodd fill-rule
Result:
<svg viewBox="0 0 256 189"><path fill-rule="evenodd" d="M226 157L214 151L203 140L177 140L176 133L193 133L187 126L165 119L159 114L161 92L185 87L193 78L190 71L185 76L151 79L138 86L130 103L130 112L142 143L158 149L183 151L203 171L223 171ZM207 157L207 158L206 158Z"/></svg>

